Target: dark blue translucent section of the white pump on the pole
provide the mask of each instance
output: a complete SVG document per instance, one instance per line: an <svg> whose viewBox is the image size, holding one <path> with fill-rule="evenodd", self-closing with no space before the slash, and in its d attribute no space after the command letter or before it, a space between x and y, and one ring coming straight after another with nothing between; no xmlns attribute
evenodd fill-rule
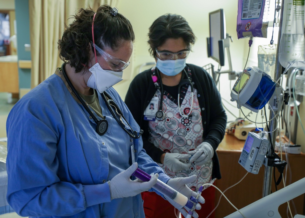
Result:
<svg viewBox="0 0 305 218"><path fill-rule="evenodd" d="M275 83L270 78L263 75L260 84L246 104L258 110L262 109L274 93L274 84Z"/></svg>

